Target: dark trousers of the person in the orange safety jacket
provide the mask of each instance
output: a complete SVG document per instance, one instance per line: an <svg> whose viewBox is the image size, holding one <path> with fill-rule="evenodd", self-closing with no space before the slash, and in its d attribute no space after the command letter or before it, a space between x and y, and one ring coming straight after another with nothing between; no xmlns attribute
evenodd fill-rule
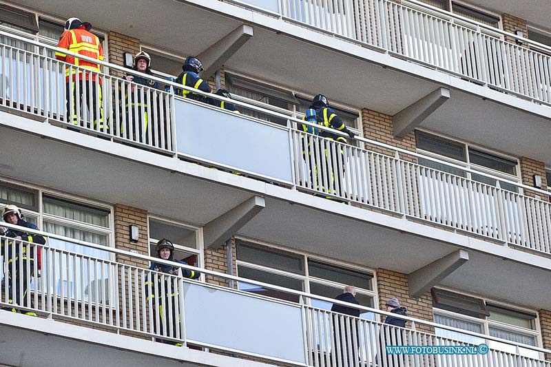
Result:
<svg viewBox="0 0 551 367"><path fill-rule="evenodd" d="M65 98L67 100L67 122L81 127L104 129L101 84L96 81L73 81L66 83ZM98 88L96 92L96 87ZM85 98L83 98L85 96ZM80 110L77 108L80 105ZM82 113L81 113L82 112ZM83 122L79 123L80 118ZM106 131L109 126L105 124Z"/></svg>

